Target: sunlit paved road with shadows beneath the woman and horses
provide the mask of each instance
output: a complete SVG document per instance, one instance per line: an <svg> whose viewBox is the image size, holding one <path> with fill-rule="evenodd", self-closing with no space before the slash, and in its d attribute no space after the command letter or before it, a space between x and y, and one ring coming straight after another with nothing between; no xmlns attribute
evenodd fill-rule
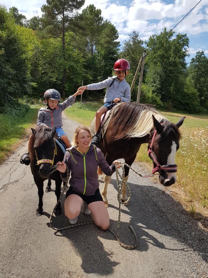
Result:
<svg viewBox="0 0 208 278"><path fill-rule="evenodd" d="M63 122L71 138L78 124L66 117ZM131 220L139 238L135 250L125 250L109 231L94 224L56 233L49 227L55 184L44 194L44 215L36 217L37 188L30 167L19 163L26 149L27 142L0 166L0 277L208 277L208 233L155 179L138 178L133 172L132 198L128 207L122 206L119 233L122 241L134 243ZM133 167L145 173L141 164ZM111 183L108 212L115 228L115 174ZM89 216L80 214L79 221L86 219ZM68 221L62 215L53 217L53 224L63 227Z"/></svg>

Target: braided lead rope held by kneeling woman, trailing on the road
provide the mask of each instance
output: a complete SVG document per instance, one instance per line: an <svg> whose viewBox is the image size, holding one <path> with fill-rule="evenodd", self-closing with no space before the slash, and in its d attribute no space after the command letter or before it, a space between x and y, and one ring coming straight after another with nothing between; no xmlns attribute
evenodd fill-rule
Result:
<svg viewBox="0 0 208 278"><path fill-rule="evenodd" d="M153 175L142 175L142 174L138 173L137 171L135 171L131 166L129 166L129 165L126 164L125 162L120 162L120 164L121 164L121 167L122 167L122 169L123 169L123 175L122 175L122 176L120 175L120 173L119 173L119 171L118 171L118 168L117 168L117 166L116 166L116 181L117 181L117 186L118 186L118 196L117 196L117 198L118 198L118 202L119 202L119 215L118 215L117 230L118 230L118 228L119 228L119 226L120 226L120 215L121 215L121 213L120 213L120 204L127 204L128 201L129 201L130 198L131 198L131 191L130 191L130 188L129 188L128 184L126 183L126 181L124 180L124 178L125 178L124 165L127 166L128 168L130 168L131 170L133 170L137 175L139 175L139 176L142 177L142 178L144 178L144 177L152 177L152 176L153 176ZM123 164L123 165L122 165L122 164ZM57 165L57 166L54 166L54 171L57 170L57 167L58 167L58 165ZM121 184L124 183L124 184L126 185L127 189L128 189L128 199L127 199L125 202L122 202L122 201L121 201L120 192L121 192L122 187L121 187L121 185L119 184L118 176L119 176L120 179L121 179ZM74 225L69 225L69 226L67 226L67 227L63 227L63 228L59 228L59 229L53 227L53 225L52 225L52 215L54 214L55 209L56 209L56 207L57 207L59 201L61 200L64 191L65 191L66 188L67 188L68 180L69 180L69 170L68 170L68 168L67 168L67 181L66 181L66 183L65 183L65 185L64 185L64 187L63 187L63 192L61 193L61 196L60 196L58 202L56 203L56 205L55 205L55 207L54 207L54 209L53 209L53 211L52 211L52 213L51 213L51 215L50 215L50 226L51 226L52 229L54 229L54 230L56 230L56 231L63 231L63 230L67 230L67 229L70 229L70 228L73 228L73 227L77 227L77 226L82 226L82 225L94 223L94 221L88 221L88 222L78 223L78 224L74 224ZM130 223L129 223L129 228L132 230L132 232L133 232L133 234L134 234L134 236L135 236L135 238L136 238L136 244L135 244L135 245L126 245L126 244L124 244L124 243L121 242L121 240L119 239L117 230L114 231L114 230L112 230L110 227L108 228L108 230L116 237L116 239L118 240L119 244L120 244L122 247L124 247L124 248L126 248L126 249L129 249L129 250L132 250L132 249L134 249L134 248L136 248L136 247L138 246L138 238L137 238L137 234L136 234L135 230L133 229L132 225L130 225Z"/></svg>

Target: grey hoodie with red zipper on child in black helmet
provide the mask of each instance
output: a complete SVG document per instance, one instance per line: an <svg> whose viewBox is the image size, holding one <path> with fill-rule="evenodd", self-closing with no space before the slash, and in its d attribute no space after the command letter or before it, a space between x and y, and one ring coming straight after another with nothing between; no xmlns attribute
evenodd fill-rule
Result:
<svg viewBox="0 0 208 278"><path fill-rule="evenodd" d="M75 101L75 97L71 95L62 103L59 103L53 110L49 107L42 107L38 111L37 125L47 125L49 127L62 127L62 111Z"/></svg>

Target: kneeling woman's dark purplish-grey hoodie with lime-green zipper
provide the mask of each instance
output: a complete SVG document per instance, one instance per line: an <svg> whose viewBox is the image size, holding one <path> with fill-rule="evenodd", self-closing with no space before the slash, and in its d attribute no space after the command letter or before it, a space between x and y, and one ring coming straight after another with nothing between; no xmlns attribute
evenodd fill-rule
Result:
<svg viewBox="0 0 208 278"><path fill-rule="evenodd" d="M80 153L75 147L67 149L63 161L66 163L71 178L69 184L73 190L84 195L94 195L99 187L97 166L100 166L105 175L111 176L116 167L106 162L101 150L95 145L90 145L85 154ZM61 173L61 178L66 182L66 172Z"/></svg>

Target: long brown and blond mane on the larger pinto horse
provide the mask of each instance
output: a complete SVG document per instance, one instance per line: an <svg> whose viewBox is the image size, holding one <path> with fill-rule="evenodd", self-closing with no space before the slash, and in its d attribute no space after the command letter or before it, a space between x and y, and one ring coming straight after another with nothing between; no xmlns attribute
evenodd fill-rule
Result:
<svg viewBox="0 0 208 278"><path fill-rule="evenodd" d="M154 128L153 118L160 121L164 117L153 107L137 102L117 104L113 109L108 128L112 130L111 140L144 137Z"/></svg>

